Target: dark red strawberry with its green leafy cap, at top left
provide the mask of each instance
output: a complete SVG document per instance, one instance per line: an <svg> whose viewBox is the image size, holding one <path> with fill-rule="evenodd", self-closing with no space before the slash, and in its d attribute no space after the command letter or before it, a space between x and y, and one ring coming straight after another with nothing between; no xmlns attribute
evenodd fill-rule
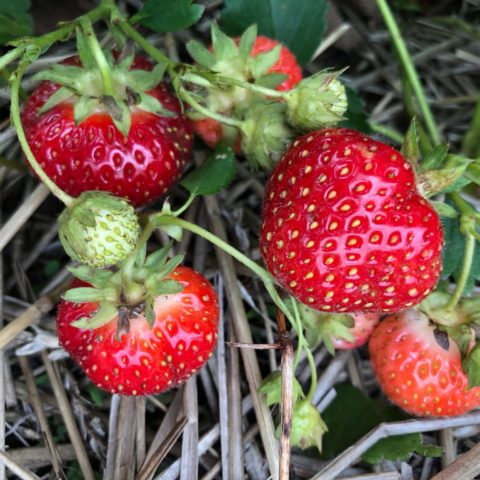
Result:
<svg viewBox="0 0 480 480"><path fill-rule="evenodd" d="M118 55L117 55L118 56ZM192 150L190 122L141 57L109 59L114 96L96 65L72 57L41 72L22 122L38 163L73 197L102 190L133 205L163 195Z"/></svg>

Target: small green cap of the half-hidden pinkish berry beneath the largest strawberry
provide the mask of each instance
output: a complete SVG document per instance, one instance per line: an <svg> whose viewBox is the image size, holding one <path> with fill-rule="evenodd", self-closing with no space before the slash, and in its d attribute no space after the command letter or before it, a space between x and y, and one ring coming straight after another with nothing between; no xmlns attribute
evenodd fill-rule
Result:
<svg viewBox="0 0 480 480"><path fill-rule="evenodd" d="M354 340L351 329L355 325L355 320L348 313L323 313L300 302L297 302L297 305L305 328L305 337L312 348L323 341L329 353L333 355L334 338L348 342Z"/></svg>

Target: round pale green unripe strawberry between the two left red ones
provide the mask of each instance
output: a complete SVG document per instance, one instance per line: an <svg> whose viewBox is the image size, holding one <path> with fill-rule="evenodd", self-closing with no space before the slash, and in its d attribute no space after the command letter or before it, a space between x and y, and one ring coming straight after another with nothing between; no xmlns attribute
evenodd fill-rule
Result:
<svg viewBox="0 0 480 480"><path fill-rule="evenodd" d="M133 207L105 192L85 192L60 215L59 236L73 259L91 267L108 267L135 248L140 226Z"/></svg>

